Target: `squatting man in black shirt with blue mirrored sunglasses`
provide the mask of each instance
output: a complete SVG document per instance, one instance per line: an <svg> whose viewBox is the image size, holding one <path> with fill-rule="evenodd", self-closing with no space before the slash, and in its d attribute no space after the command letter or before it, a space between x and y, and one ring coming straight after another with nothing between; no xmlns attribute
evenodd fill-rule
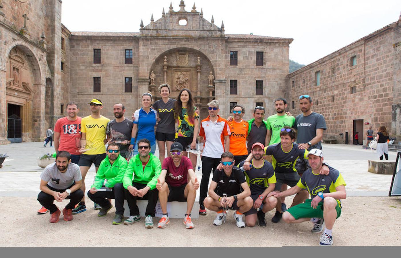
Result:
<svg viewBox="0 0 401 258"><path fill-rule="evenodd" d="M249 211L253 206L253 200L250 197L251 190L245 180L245 175L238 167L234 167L233 153L226 151L221 154L221 163L223 170L216 169L213 172L209 196L205 198L203 204L209 210L217 212L213 225L220 226L225 220L224 207L236 210L234 218L237 227L245 228L242 214ZM241 191L241 187L243 191ZM227 194L227 197L224 194Z"/></svg>

